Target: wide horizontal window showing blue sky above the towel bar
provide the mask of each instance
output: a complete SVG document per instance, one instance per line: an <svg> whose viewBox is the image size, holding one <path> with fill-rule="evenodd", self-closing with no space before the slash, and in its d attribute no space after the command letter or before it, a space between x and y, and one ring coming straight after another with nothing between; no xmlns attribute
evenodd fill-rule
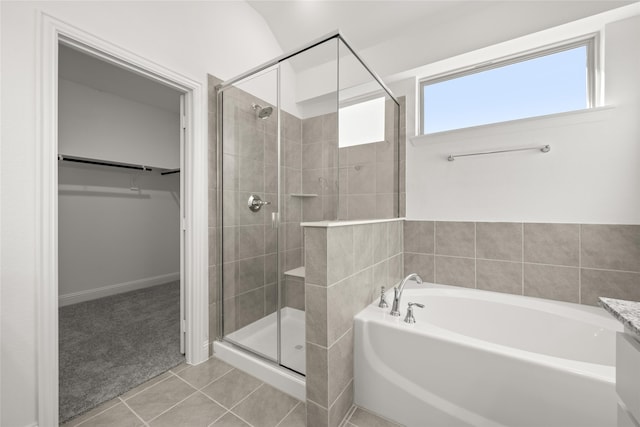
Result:
<svg viewBox="0 0 640 427"><path fill-rule="evenodd" d="M422 134L594 106L595 37L421 82Z"/></svg>

